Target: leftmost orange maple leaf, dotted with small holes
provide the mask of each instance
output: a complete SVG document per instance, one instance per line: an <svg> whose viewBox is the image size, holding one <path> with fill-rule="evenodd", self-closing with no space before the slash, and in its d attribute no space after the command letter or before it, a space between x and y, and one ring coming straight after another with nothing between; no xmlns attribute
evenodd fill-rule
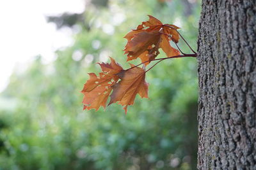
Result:
<svg viewBox="0 0 256 170"><path fill-rule="evenodd" d="M90 110L92 108L99 110L100 106L106 108L106 102L111 93L112 86L119 80L116 73L123 70L114 59L109 58L111 59L110 64L104 62L99 63L103 71L99 73L99 77L95 73L89 73L90 78L86 81L81 91L84 94L84 110Z"/></svg>

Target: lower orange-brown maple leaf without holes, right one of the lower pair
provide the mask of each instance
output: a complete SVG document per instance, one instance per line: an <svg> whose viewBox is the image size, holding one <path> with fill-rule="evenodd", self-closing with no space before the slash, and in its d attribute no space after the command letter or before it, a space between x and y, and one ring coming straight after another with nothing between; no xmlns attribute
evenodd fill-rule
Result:
<svg viewBox="0 0 256 170"><path fill-rule="evenodd" d="M113 86L113 92L109 104L116 103L124 106L125 114L127 106L134 103L136 94L141 98L148 97L148 83L145 81L145 69L134 67L132 69L122 70L116 75L120 81Z"/></svg>

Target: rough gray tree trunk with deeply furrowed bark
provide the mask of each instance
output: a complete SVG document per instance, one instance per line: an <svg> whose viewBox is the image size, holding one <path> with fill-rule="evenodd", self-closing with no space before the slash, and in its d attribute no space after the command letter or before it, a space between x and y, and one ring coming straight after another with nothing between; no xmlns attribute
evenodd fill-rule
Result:
<svg viewBox="0 0 256 170"><path fill-rule="evenodd" d="M203 0L198 169L256 169L256 0Z"/></svg>

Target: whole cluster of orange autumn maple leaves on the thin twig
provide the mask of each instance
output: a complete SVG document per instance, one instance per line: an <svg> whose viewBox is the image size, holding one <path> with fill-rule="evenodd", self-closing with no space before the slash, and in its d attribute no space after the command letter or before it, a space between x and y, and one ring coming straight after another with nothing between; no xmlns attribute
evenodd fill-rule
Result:
<svg viewBox="0 0 256 170"><path fill-rule="evenodd" d="M150 61L156 59L159 48L166 53L167 57L180 55L179 50L173 48L169 42L179 42L179 32L177 32L179 27L162 24L161 21L150 15L148 17L148 21L142 22L137 29L132 30L124 37L128 40L124 49L127 61L140 58L143 67L131 64L129 69L123 69L111 57L109 64L99 63L102 72L99 73L99 76L89 73L90 79L86 81L81 91L84 94L84 110L93 108L98 110L100 106L106 108L110 96L109 104L118 102L124 106L126 114L127 106L134 103L136 94L148 97L145 67Z"/></svg>

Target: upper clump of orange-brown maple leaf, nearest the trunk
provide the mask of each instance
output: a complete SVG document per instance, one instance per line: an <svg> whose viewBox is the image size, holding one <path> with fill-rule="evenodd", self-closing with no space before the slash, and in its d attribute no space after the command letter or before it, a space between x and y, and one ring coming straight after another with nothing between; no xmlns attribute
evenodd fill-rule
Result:
<svg viewBox="0 0 256 170"><path fill-rule="evenodd" d="M168 57L180 55L179 50L170 46L169 41L179 42L179 27L163 24L157 18L148 15L149 20L138 25L136 30L129 32L124 38L128 40L125 46L127 60L140 57L141 62L153 60L162 48ZM145 63L145 65L149 62Z"/></svg>

